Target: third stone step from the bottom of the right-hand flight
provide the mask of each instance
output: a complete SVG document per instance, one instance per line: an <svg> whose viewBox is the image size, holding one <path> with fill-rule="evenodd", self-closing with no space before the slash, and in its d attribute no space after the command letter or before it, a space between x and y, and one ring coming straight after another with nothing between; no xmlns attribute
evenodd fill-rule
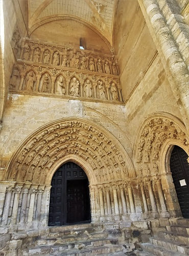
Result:
<svg viewBox="0 0 189 256"><path fill-rule="evenodd" d="M179 242L184 245L189 245L189 237L184 234L179 234L170 231L161 231L157 233L157 237L164 240L171 240L175 242Z"/></svg>

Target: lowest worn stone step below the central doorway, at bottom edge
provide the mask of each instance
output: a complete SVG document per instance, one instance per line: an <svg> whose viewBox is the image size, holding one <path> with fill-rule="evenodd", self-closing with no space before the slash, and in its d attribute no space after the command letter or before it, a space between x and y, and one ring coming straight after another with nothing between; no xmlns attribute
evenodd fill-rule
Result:
<svg viewBox="0 0 189 256"><path fill-rule="evenodd" d="M98 246L98 247L86 247L86 248L69 248L68 250L64 246L41 246L38 248L31 248L29 251L23 253L27 255L107 255L108 253L123 253L124 247L122 245L110 245L110 246Z"/></svg>

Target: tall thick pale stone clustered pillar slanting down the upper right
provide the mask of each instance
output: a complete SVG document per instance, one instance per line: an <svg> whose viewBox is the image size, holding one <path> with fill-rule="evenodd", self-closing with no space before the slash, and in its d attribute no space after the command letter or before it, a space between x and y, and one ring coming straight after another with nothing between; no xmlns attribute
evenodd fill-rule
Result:
<svg viewBox="0 0 189 256"><path fill-rule="evenodd" d="M179 11L180 8L177 6L178 3L176 4L176 1L174 1L174 4L172 5L170 1L138 0L138 4L143 12L147 26L161 57L161 61L169 78L173 94L176 97L177 103L179 104L185 126L188 127L188 88L186 86L186 84L189 82L188 68L177 45L177 40L180 40L182 37L182 40L186 41L188 49L188 42L185 39L183 32L184 30L186 31L186 29L181 29L179 32L179 29L176 29L175 26L172 27L173 30L171 30L169 27L170 25L173 26L174 21L171 19L174 17L179 17L181 20ZM159 8L160 6L161 9L164 9L164 13L167 14L170 6L172 8L177 6L175 8L177 10L177 14L172 15L172 17L169 14L169 21L167 21L166 17L163 15L163 12ZM177 39L175 40L174 37Z"/></svg>

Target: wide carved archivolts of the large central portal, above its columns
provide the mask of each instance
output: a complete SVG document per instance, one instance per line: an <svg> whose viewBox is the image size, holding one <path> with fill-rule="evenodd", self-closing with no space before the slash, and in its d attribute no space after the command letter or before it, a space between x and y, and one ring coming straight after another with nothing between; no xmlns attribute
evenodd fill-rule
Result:
<svg viewBox="0 0 189 256"><path fill-rule="evenodd" d="M47 184L46 177L56 170L57 162L69 155L83 159L98 184L135 177L127 153L112 135L94 123L66 119L30 136L10 161L5 180Z"/></svg>

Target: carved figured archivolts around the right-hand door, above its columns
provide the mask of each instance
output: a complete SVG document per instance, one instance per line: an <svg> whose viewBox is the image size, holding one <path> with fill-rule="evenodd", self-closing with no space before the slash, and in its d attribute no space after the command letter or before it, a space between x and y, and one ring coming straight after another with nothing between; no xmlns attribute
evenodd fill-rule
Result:
<svg viewBox="0 0 189 256"><path fill-rule="evenodd" d="M135 162L138 176L162 173L160 160L166 143L181 145L188 151L188 138L184 125L172 116L156 115L148 118L140 130L135 144Z"/></svg>

